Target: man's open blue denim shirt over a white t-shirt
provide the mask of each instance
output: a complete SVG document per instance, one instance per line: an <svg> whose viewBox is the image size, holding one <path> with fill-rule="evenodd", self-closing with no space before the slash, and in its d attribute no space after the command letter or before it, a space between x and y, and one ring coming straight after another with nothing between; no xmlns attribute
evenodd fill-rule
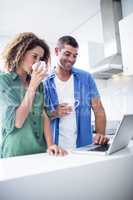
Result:
<svg viewBox="0 0 133 200"><path fill-rule="evenodd" d="M74 77L74 98L78 100L79 106L76 108L77 124L77 147L92 143L91 130L91 100L95 97L100 98L96 84L92 76L83 70L72 68ZM48 111L55 111L59 104L54 82L55 72L44 81L45 107ZM59 137L59 118L52 120L52 134L54 143L58 144Z"/></svg>

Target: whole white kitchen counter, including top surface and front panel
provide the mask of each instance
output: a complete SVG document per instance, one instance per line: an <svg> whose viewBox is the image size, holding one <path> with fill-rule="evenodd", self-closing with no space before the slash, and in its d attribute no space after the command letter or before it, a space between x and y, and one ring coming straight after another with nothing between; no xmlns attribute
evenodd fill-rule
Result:
<svg viewBox="0 0 133 200"><path fill-rule="evenodd" d="M110 156L46 154L0 160L0 200L132 200L133 141Z"/></svg>

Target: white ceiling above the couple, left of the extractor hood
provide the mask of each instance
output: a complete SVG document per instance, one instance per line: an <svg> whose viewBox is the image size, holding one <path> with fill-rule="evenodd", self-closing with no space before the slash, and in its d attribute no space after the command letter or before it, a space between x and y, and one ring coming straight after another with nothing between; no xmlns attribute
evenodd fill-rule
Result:
<svg viewBox="0 0 133 200"><path fill-rule="evenodd" d="M100 0L1 0L0 37L32 31L53 45L64 34L103 42Z"/></svg>

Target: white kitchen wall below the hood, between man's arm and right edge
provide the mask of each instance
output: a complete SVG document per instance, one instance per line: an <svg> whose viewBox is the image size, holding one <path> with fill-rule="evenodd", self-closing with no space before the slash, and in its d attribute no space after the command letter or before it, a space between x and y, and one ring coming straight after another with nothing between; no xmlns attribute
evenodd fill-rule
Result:
<svg viewBox="0 0 133 200"><path fill-rule="evenodd" d="M133 113L133 76L116 76L96 80L107 120L120 120L124 113Z"/></svg>

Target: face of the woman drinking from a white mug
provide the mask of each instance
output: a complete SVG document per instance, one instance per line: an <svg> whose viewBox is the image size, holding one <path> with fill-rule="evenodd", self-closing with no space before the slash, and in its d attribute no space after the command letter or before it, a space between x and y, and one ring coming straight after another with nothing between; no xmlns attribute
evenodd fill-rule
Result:
<svg viewBox="0 0 133 200"><path fill-rule="evenodd" d="M34 49L27 51L22 62L22 68L27 73L30 73L32 71L32 65L42 60L43 56L44 50L40 46L36 46Z"/></svg>

